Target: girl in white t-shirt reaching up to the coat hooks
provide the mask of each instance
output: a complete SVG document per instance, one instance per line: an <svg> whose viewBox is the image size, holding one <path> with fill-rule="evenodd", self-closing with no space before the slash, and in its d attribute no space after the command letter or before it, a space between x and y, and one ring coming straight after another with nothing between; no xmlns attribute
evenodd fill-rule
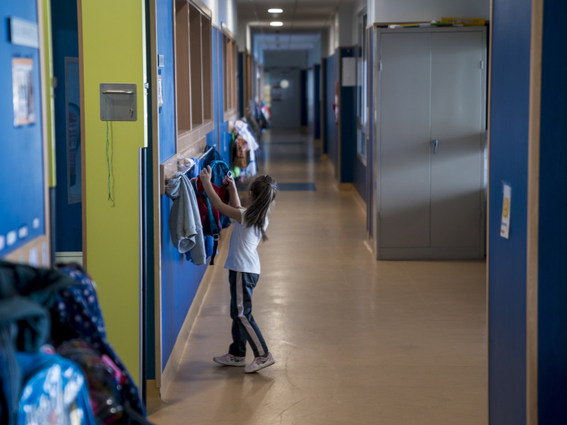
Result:
<svg viewBox="0 0 567 425"><path fill-rule="evenodd" d="M246 341L254 351L254 360L244 369L245 373L257 372L275 363L268 351L266 342L254 317L252 317L252 290L260 274L260 261L256 248L260 239L265 241L268 227L268 212L276 198L277 183L270 176L259 176L250 185L248 191L248 209L240 206L240 198L235 181L228 176L223 183L228 185L230 205L220 200L210 183L210 166L201 171L201 182L210 206L232 220L236 220L232 229L230 246L225 268L228 268L230 282L230 317L232 318L232 344L224 356L214 357L213 361L221 365L244 366Z"/></svg>

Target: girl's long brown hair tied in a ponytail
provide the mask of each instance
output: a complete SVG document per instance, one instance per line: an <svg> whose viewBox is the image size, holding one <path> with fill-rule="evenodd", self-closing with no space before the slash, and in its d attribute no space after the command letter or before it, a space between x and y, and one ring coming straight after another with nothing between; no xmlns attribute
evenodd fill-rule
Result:
<svg viewBox="0 0 567 425"><path fill-rule="evenodd" d="M252 205L246 210L245 225L256 227L262 233L262 240L266 241L268 237L264 233L264 224L270 205L276 199L278 183L267 174L258 176L250 183L249 191L252 192Z"/></svg>

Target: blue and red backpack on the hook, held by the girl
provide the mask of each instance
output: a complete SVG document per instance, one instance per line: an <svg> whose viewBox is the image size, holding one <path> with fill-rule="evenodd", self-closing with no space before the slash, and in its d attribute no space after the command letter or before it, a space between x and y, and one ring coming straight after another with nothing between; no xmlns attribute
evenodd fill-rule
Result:
<svg viewBox="0 0 567 425"><path fill-rule="evenodd" d="M228 165L220 160L211 161L210 166L210 183L214 191L218 194L223 203L228 204L229 194L227 186L223 184L225 176L228 174ZM230 218L221 214L218 210L210 206L201 178L191 179L191 184L196 193L199 215L201 215L201 224L203 225L203 237L213 237L213 251L210 255L211 266L215 263L215 256L218 249L218 238L220 230L230 226Z"/></svg>

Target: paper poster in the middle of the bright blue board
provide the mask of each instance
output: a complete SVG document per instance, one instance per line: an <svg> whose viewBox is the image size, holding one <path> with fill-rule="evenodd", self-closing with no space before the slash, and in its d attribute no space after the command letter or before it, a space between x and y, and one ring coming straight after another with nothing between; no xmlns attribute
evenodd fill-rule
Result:
<svg viewBox="0 0 567 425"><path fill-rule="evenodd" d="M14 127L35 123L33 96L33 60L27 57L13 57L12 98Z"/></svg>

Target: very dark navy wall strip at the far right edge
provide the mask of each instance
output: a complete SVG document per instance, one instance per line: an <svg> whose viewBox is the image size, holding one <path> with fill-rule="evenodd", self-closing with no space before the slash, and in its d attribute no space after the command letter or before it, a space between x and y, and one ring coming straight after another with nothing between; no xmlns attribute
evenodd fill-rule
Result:
<svg viewBox="0 0 567 425"><path fill-rule="evenodd" d="M567 84L564 1L544 2L539 173L539 424L566 422ZM560 53L563 52L563 53Z"/></svg>

